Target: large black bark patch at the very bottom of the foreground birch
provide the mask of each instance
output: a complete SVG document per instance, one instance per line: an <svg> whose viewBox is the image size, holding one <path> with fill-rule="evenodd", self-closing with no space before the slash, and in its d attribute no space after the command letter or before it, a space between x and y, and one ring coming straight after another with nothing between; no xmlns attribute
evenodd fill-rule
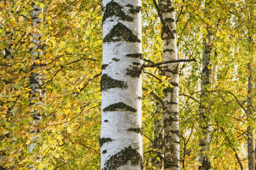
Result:
<svg viewBox="0 0 256 170"><path fill-rule="evenodd" d="M129 162L131 162L131 165L140 165L141 170L143 170L142 156L136 149L133 149L131 145L111 156L104 164L102 170L116 170L118 167L127 165Z"/></svg>

